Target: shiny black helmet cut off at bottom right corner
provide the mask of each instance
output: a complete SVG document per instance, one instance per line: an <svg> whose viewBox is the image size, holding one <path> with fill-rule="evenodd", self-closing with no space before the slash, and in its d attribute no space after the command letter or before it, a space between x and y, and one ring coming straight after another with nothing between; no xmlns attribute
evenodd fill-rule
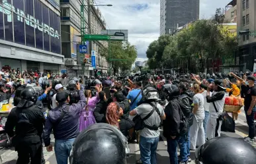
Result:
<svg viewBox="0 0 256 164"><path fill-rule="evenodd" d="M255 164L256 150L243 138L212 138L196 149L196 164Z"/></svg>

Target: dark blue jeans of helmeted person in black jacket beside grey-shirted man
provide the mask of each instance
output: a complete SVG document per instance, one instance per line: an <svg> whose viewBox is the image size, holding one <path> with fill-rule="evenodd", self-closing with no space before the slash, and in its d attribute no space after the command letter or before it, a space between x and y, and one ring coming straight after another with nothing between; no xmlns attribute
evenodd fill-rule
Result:
<svg viewBox="0 0 256 164"><path fill-rule="evenodd" d="M167 151L169 153L170 163L178 164L178 154L177 154L178 140L167 139Z"/></svg>

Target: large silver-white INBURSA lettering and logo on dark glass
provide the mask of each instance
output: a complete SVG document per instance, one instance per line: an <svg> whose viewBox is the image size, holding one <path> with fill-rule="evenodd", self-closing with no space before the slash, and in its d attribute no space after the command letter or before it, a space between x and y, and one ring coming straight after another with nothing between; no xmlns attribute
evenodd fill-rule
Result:
<svg viewBox="0 0 256 164"><path fill-rule="evenodd" d="M60 39L58 30L54 30L54 28L50 27L48 24L45 24L44 22L39 22L39 20L34 18L34 16L31 16L30 14L25 14L24 11L22 11L21 9L15 9L15 7L11 3L8 3L7 0L2 1L3 7L0 6L0 12L3 14L7 14L7 20L5 21L13 22L13 11L17 13L18 21L23 22L24 20L27 26L32 26L33 28L40 30L41 32L44 32L45 34Z"/></svg>

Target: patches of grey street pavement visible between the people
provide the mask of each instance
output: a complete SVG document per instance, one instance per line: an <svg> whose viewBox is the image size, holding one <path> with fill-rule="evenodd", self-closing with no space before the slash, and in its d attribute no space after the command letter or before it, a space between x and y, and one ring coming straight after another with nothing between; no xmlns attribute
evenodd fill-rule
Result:
<svg viewBox="0 0 256 164"><path fill-rule="evenodd" d="M247 136L247 124L245 123L245 113L241 110L239 113L239 124L236 125L235 133L222 132L222 136L231 136L241 138ZM52 136L53 138L53 136ZM54 145L54 140L52 140ZM158 144L157 148L157 161L158 163L169 163L169 155L167 153L167 143L165 138L161 137L161 141ZM256 145L254 145L256 146ZM17 160L17 152L13 149L2 149L0 150L1 157L4 164L15 164ZM47 152L44 148L44 157L47 163L56 163L56 158L54 151ZM194 151L191 151L191 158L193 161L191 164L194 164ZM130 157L128 158L128 164L134 164L137 159L140 159L140 149L138 144L130 144Z"/></svg>

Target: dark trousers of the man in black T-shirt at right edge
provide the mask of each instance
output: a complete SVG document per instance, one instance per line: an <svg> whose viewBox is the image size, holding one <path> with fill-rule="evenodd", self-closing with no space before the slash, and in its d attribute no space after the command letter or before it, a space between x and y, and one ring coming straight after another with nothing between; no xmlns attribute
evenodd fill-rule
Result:
<svg viewBox="0 0 256 164"><path fill-rule="evenodd" d="M245 115L246 115L246 121L249 127L249 138L253 139L255 137L255 124L254 124L254 115L256 111L256 107L253 107L253 110L251 110L251 115L247 115L249 107L245 107Z"/></svg>

